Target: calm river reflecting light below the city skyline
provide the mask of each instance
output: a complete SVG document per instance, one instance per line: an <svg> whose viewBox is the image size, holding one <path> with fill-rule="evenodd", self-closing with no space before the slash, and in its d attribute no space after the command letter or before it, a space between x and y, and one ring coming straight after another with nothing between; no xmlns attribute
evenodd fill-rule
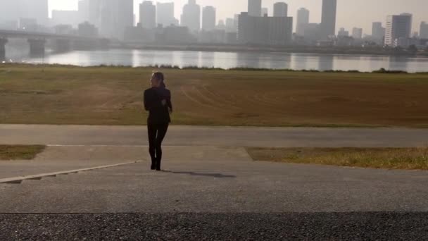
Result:
<svg viewBox="0 0 428 241"><path fill-rule="evenodd" d="M405 56L287 54L259 52L206 52L110 49L70 51L63 54L28 56L27 52L11 51L6 61L26 63L60 63L75 66L198 66L215 68L272 68L294 70L405 70L428 72L428 58Z"/></svg>

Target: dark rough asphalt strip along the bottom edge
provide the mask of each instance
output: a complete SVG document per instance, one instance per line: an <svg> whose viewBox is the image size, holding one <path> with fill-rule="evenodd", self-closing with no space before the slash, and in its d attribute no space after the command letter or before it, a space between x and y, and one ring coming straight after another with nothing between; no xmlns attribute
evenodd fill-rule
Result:
<svg viewBox="0 0 428 241"><path fill-rule="evenodd" d="M427 240L427 213L1 215L0 240Z"/></svg>

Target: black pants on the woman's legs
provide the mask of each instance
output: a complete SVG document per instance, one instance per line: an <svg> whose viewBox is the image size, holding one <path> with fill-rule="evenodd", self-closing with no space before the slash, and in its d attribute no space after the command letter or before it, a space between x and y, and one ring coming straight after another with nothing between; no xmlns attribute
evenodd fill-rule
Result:
<svg viewBox="0 0 428 241"><path fill-rule="evenodd" d="M168 125L168 123L147 125L151 163L157 169L160 169L160 162L162 161L162 142L168 131Z"/></svg>

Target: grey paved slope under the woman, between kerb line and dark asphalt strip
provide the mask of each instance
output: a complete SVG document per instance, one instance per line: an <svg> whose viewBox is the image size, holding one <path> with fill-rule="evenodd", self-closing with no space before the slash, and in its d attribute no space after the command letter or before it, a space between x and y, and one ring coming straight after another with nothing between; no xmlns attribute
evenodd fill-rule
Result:
<svg viewBox="0 0 428 241"><path fill-rule="evenodd" d="M0 185L0 213L428 211L424 171L258 162L218 147L168 147L163 168L144 161Z"/></svg>

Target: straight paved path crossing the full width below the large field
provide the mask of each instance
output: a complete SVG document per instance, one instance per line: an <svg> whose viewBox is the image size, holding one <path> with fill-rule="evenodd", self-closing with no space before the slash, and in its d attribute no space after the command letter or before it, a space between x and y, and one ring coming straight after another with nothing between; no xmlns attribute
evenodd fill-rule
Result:
<svg viewBox="0 0 428 241"><path fill-rule="evenodd" d="M144 126L0 125L0 144L146 145ZM232 128L172 126L170 146L212 147L420 147L428 129Z"/></svg>

